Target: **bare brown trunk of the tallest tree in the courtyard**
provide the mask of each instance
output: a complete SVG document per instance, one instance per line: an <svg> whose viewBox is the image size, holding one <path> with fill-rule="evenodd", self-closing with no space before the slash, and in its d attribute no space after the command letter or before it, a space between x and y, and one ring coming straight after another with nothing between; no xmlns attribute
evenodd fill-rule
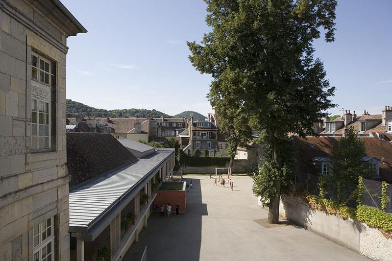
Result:
<svg viewBox="0 0 392 261"><path fill-rule="evenodd" d="M280 147L277 138L273 138L273 161L279 169L282 168ZM279 204L280 204L280 180L275 181L276 194L270 198L270 208L268 210L268 222L271 224L279 223Z"/></svg>

